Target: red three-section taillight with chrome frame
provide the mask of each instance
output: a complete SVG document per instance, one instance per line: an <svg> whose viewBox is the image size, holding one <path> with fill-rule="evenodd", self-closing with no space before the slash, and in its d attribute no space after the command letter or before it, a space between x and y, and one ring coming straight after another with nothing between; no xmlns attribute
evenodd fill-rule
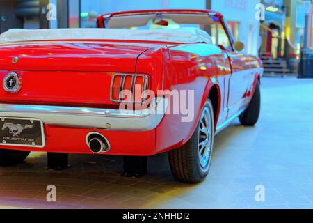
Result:
<svg viewBox="0 0 313 223"><path fill-rule="evenodd" d="M144 102L147 90L147 75L115 74L111 84L112 102Z"/></svg>

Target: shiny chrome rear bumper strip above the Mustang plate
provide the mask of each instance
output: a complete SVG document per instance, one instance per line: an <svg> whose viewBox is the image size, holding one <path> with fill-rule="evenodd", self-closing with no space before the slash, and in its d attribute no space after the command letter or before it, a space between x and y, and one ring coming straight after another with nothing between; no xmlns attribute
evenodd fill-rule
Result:
<svg viewBox="0 0 313 223"><path fill-rule="evenodd" d="M167 98L156 98L155 106L141 111L0 104L0 117L38 118L49 125L145 131L157 128L168 107Z"/></svg>

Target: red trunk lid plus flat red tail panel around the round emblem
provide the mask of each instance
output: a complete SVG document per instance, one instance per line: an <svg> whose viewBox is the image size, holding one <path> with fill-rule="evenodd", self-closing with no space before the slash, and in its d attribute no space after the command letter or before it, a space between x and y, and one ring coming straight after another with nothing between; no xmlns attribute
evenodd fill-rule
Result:
<svg viewBox="0 0 313 223"><path fill-rule="evenodd" d="M150 48L103 41L0 45L0 79L15 72L22 81L17 93L1 87L0 102L79 107L114 105L110 99L113 75L136 72L138 56Z"/></svg>

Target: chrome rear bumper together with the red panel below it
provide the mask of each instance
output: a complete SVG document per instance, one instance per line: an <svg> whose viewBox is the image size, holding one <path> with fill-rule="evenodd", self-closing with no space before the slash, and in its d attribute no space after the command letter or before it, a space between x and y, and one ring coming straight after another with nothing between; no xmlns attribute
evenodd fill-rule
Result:
<svg viewBox="0 0 313 223"><path fill-rule="evenodd" d="M44 123L45 147L1 146L20 151L91 154L86 144L98 132L111 145L107 155L155 155L156 128L165 116L168 99L157 98L156 109L127 110L0 104L0 117L38 118ZM110 128L109 128L110 126ZM101 154L101 153L100 153Z"/></svg>

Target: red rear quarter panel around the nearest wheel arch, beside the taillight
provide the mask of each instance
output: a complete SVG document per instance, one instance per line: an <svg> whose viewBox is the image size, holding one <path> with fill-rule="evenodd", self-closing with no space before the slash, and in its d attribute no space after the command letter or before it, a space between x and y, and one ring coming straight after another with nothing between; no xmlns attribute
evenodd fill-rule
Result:
<svg viewBox="0 0 313 223"><path fill-rule="evenodd" d="M145 52L138 59L137 72L157 73L157 78L163 77L157 89L182 92L186 91L186 108L191 121L182 121L188 115L173 114L177 105L171 101L166 116L156 130L156 153L179 148L191 138L202 112L205 100L212 86L218 86L219 109L216 123L225 121L227 114L223 113L225 95L225 78L230 75L230 64L222 50L216 45L191 44L172 45L163 48L161 59L157 62L155 56L160 52ZM159 64L158 64L159 63ZM156 66L159 66L157 68ZM163 68L162 70L160 68ZM193 91L193 102L188 100L188 91ZM184 107L184 98L179 105ZM176 106L176 107L175 107ZM188 119L188 118L187 118ZM170 137L169 137L170 136Z"/></svg>

